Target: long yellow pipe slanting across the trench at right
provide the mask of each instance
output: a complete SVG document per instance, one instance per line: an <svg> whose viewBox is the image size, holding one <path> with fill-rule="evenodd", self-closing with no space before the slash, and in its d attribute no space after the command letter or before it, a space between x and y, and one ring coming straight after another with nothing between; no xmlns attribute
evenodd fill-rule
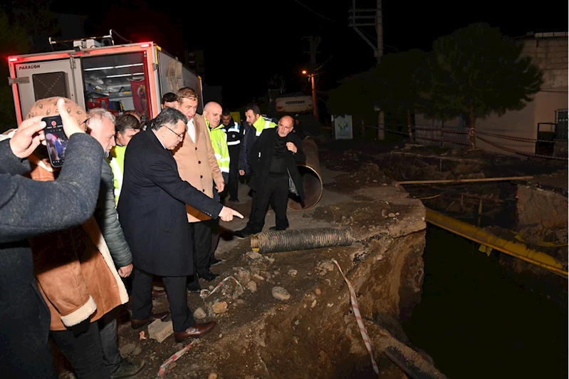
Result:
<svg viewBox="0 0 569 379"><path fill-rule="evenodd" d="M526 245L517 242L508 241L493 234L484 232L484 230L474 227L466 222L461 222L452 217L445 216L439 212L427 208L427 221L447 229L461 237L471 239L479 244L489 246L492 249L502 251L518 259L534 264L542 269L552 272L565 279L569 279L569 272L563 270L563 265L559 264L555 259L541 251L529 249Z"/></svg>

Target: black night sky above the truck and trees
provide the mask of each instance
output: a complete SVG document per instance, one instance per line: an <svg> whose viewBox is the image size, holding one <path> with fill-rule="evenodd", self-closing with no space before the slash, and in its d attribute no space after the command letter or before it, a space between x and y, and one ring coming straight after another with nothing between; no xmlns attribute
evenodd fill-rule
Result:
<svg viewBox="0 0 569 379"><path fill-rule="evenodd" d="M52 9L88 14L88 35L100 36L113 28L135 42L155 41L180 57L184 48L203 49L205 81L223 85L224 105L231 107L265 94L267 80L275 73L286 78L288 91L302 86L309 90L308 81L300 74L310 59L303 53L308 51L303 36L322 38L317 55L319 65L327 62L320 70L323 75L318 86L322 90L375 63L372 48L348 27L350 0L184 1L191 4L191 10L175 6L173 1L119 0L110 9L103 9L100 3L97 11L93 11L92 2L85 4L84 9L70 9L54 0ZM357 0L355 4L357 8L375 8L376 3ZM555 14L545 6L496 9L497 1L471 4L469 8L461 4L465 7L460 9L459 5L449 8L429 1L384 0L385 53L411 48L428 51L438 36L478 21L497 26L508 36L565 31L562 18L554 21ZM375 29L366 26L362 30L375 43Z"/></svg>

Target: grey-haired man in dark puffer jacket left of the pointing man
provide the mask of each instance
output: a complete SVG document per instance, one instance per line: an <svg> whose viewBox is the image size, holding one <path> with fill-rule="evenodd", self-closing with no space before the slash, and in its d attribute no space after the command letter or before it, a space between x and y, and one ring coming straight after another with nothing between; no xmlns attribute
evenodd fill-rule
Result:
<svg viewBox="0 0 569 379"><path fill-rule="evenodd" d="M105 155L108 155L115 146L115 116L106 109L95 108L89 110L88 117L88 133L99 141ZM125 235L122 234L122 227L115 208L113 170L105 158L103 161L99 197L93 216L103 233L110 255L117 266L118 274L126 278L132 272L132 254ZM139 359L122 358L118 351L116 309L105 314L98 322L103 359L111 373L111 378L130 378L139 373L145 362Z"/></svg>

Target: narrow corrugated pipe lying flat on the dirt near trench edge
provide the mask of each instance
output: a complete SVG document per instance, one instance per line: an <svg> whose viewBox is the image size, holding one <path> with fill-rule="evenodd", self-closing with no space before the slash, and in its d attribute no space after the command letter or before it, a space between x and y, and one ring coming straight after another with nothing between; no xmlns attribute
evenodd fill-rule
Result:
<svg viewBox="0 0 569 379"><path fill-rule="evenodd" d="M353 230L350 227L271 230L251 236L251 249L258 253L276 253L329 246L350 246L354 242Z"/></svg>

